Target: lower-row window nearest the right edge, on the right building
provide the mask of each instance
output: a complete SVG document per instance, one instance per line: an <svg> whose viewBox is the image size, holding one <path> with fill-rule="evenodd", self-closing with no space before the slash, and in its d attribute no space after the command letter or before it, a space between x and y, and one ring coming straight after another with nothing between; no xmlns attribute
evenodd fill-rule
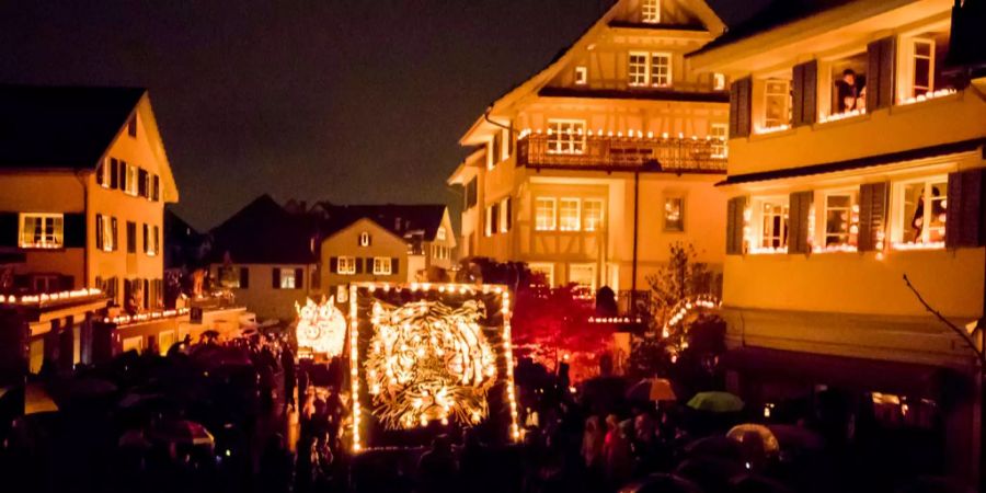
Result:
<svg viewBox="0 0 986 493"><path fill-rule="evenodd" d="M895 240L901 243L944 245L945 213L948 210L949 182L947 176L936 176L896 185L896 209L899 211L899 231Z"/></svg>

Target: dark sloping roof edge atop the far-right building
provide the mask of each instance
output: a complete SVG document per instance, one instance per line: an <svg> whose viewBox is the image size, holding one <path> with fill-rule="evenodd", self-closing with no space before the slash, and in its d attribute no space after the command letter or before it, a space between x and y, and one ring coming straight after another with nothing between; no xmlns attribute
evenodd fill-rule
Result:
<svg viewBox="0 0 986 493"><path fill-rule="evenodd" d="M721 46L753 37L757 34L807 19L819 12L845 5L855 0L773 0L744 22L730 26L722 36L688 54L689 57Z"/></svg>

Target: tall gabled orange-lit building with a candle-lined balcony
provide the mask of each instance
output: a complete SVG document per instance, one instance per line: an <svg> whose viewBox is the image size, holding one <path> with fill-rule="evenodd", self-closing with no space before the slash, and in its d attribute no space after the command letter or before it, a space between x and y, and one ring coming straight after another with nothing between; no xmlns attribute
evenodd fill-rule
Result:
<svg viewBox="0 0 986 493"><path fill-rule="evenodd" d="M642 290L674 242L721 268L726 78L685 54L724 25L700 0L616 2L461 137L460 253L552 285Z"/></svg>

